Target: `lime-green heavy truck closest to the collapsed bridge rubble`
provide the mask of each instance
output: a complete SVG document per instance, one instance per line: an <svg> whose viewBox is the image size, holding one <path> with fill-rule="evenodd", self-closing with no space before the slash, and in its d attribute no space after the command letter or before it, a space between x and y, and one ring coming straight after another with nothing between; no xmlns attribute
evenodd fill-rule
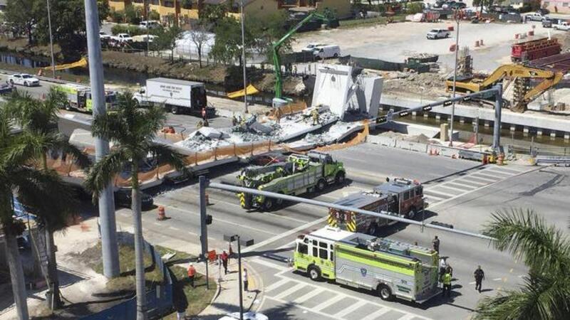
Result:
<svg viewBox="0 0 570 320"><path fill-rule="evenodd" d="M241 186L261 191L297 196L306 192L323 191L328 184L344 182L346 172L342 162L330 154L311 151L291 154L287 161L269 166L249 166L237 176ZM238 193L242 208L274 209L283 201L250 193Z"/></svg>

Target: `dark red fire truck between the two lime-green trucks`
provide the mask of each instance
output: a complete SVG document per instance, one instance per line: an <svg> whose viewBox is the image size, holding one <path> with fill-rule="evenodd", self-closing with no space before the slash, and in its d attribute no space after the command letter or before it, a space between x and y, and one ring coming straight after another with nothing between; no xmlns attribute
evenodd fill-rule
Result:
<svg viewBox="0 0 570 320"><path fill-rule="evenodd" d="M335 201L334 204L377 213L383 211L389 215L409 219L415 218L415 215L427 207L421 183L405 178L387 181L376 186L372 192L353 193ZM337 210L336 208L329 208L327 222L332 227L368 235L374 235L380 227L397 223L394 220Z"/></svg>

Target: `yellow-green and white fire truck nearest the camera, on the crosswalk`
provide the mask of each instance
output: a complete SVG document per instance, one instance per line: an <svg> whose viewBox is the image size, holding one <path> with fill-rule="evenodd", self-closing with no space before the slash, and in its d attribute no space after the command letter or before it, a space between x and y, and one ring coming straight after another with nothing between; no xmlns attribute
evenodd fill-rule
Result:
<svg viewBox="0 0 570 320"><path fill-rule="evenodd" d="M333 280L354 288L422 303L439 293L434 250L339 228L325 228L296 240L294 270L313 280Z"/></svg>

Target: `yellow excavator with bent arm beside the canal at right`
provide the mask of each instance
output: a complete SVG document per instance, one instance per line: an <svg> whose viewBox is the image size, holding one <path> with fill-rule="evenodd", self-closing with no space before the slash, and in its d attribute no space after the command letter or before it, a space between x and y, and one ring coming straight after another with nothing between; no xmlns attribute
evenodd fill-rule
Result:
<svg viewBox="0 0 570 320"><path fill-rule="evenodd" d="M564 74L559 71L532 68L514 63L510 65L502 65L487 78L466 78L465 76L457 77L455 81L455 90L459 92L479 92L481 90L492 87L495 83L507 79L507 85L503 87L503 91L514 82L513 105L511 110L524 112L527 104L536 99L539 95L554 87ZM534 87L531 86L530 80L541 79ZM447 91L453 90L453 80L445 82Z"/></svg>

